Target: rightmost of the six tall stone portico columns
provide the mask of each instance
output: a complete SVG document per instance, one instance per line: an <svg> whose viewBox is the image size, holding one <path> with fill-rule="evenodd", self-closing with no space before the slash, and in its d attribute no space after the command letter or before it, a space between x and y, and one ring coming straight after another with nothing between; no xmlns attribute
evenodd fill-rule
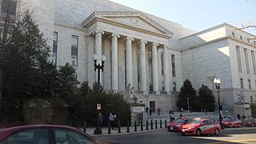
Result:
<svg viewBox="0 0 256 144"><path fill-rule="evenodd" d="M164 83L165 83L165 91L170 91L170 80L169 80L169 62L168 62L168 50L167 46L163 47L162 52L162 60L163 60L163 76L164 76Z"/></svg>

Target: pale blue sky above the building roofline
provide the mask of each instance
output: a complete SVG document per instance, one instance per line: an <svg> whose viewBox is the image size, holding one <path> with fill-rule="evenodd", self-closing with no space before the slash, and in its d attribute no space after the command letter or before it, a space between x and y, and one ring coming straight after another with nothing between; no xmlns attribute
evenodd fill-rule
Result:
<svg viewBox="0 0 256 144"><path fill-rule="evenodd" d="M110 0L201 31L226 22L256 25L256 0ZM256 34L256 30L246 30Z"/></svg>

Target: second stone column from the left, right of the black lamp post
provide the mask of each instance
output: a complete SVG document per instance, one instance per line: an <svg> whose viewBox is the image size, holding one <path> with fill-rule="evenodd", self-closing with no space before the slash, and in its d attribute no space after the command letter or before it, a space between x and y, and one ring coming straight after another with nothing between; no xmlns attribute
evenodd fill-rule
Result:
<svg viewBox="0 0 256 144"><path fill-rule="evenodd" d="M111 35L111 77L112 90L118 90L118 34Z"/></svg>

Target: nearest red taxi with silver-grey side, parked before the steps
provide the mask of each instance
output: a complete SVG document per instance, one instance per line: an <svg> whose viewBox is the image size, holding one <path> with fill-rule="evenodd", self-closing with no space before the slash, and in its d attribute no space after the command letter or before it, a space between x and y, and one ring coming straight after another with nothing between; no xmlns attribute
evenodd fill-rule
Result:
<svg viewBox="0 0 256 144"><path fill-rule="evenodd" d="M201 136L202 134L220 134L221 126L211 119L194 119L181 127L182 135L190 134Z"/></svg>

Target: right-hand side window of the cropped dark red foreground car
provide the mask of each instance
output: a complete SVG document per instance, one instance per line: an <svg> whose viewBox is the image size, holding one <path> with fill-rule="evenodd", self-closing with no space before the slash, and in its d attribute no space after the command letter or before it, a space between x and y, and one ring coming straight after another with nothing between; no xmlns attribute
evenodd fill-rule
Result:
<svg viewBox="0 0 256 144"><path fill-rule="evenodd" d="M73 130L54 129L56 143L86 143L93 144L93 140L86 138Z"/></svg>

